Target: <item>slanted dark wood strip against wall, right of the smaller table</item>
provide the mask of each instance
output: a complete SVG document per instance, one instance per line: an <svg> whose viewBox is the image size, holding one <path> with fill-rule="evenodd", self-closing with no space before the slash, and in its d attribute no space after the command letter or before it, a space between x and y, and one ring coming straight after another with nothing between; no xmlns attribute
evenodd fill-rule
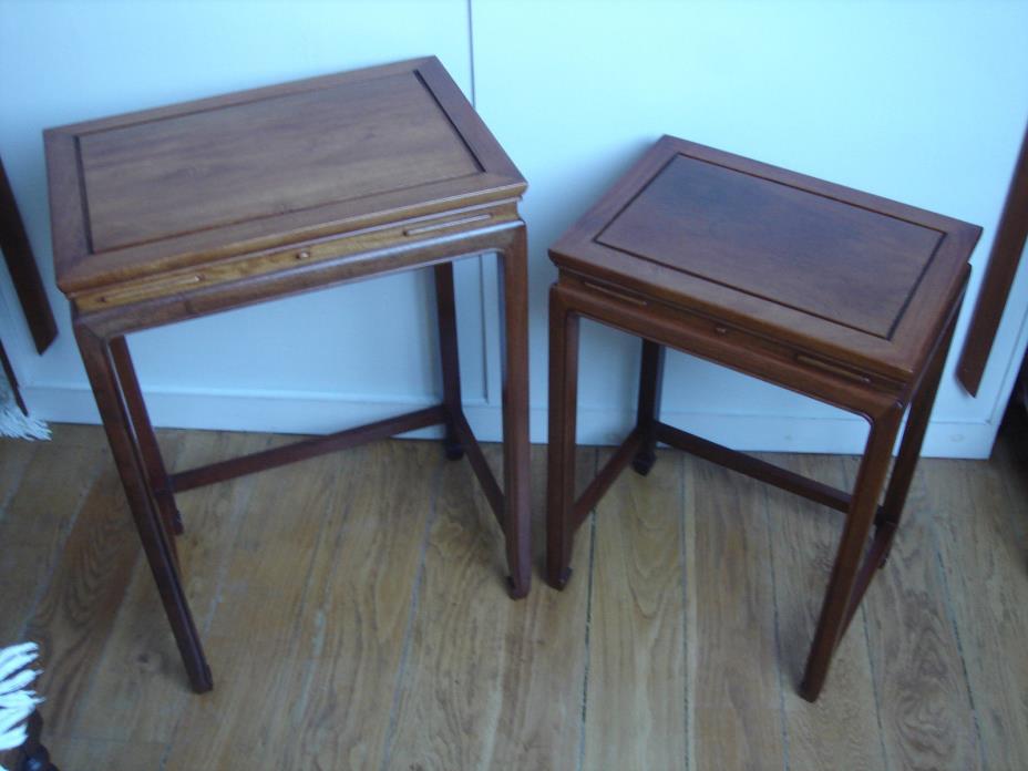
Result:
<svg viewBox="0 0 1028 771"><path fill-rule="evenodd" d="M993 343L996 341L996 330L1003 318L1010 287L1017 274L1017 266L1028 239L1028 127L1025 138L1021 140L1021 152L1014 167L1014 178L1007 193L1007 203L1003 207L1003 215L996 228L996 240L993 241L993 251L989 254L988 267L981 288L978 290L978 300L975 302L975 313L972 317L967 337L964 338L964 348L960 351L960 361L957 363L957 379L973 397L978 395L985 364L988 362Z"/></svg>

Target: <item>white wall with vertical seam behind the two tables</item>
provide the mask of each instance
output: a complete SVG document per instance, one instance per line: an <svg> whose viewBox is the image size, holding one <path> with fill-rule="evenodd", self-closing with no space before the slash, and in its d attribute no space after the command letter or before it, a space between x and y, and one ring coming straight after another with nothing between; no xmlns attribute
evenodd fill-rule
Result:
<svg viewBox="0 0 1028 771"><path fill-rule="evenodd" d="M47 280L43 127L424 53L473 91L530 183L534 441L545 441L545 247L660 134L984 226L973 299L1028 121L1025 2L0 0L0 154ZM1026 276L977 399L952 377L967 302L929 454L988 453L1028 340ZM469 419L497 439L492 258L458 278ZM62 335L38 358L3 279L0 332L34 413L94 420L60 294L51 286ZM429 289L423 276L380 279L134 336L155 422L325 432L429 403ZM386 307L409 312L387 322ZM592 323L583 345L580 438L616 441L638 346ZM855 452L864 435L846 413L681 354L665 417L740 449Z"/></svg>

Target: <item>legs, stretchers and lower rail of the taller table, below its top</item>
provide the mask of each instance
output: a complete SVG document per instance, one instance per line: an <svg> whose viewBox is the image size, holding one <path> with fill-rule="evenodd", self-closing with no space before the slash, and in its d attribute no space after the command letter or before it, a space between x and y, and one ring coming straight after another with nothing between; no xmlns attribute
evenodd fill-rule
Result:
<svg viewBox="0 0 1028 771"><path fill-rule="evenodd" d="M460 401L452 261L486 251L497 253L503 277L503 382L504 492L493 477L482 450L464 418ZM125 335L175 320L196 318L179 298L157 298L127 308L91 313L74 312L75 338L90 384L103 417L114 461L128 498L143 548L172 625L175 640L194 690L213 687L210 670L193 621L175 547L182 520L176 492L292 463L315 455L356 446L429 425L446 426L445 449L451 458L467 453L469 461L504 531L510 567L508 592L524 597L531 583L528 517L528 379L527 379L527 254L524 223L520 219L438 238L431 244L390 250L404 267L432 266L439 307L440 353L444 397L436 407L418 410L327 436L168 474L133 371ZM373 254L367 255L372 259ZM362 261L357 260L358 265ZM353 263L321 264L301 277L280 275L259 286L213 288L204 298L205 313L237 308L258 297L282 297L302 289L322 289L364 278L353 276ZM373 274L372 274L373 275ZM299 279L299 280L298 280ZM176 309L177 306L177 309Z"/></svg>

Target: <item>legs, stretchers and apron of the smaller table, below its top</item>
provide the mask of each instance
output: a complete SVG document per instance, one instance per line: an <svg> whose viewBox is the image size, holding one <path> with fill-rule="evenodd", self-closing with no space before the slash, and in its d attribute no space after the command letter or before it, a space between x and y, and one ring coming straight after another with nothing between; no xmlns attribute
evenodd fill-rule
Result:
<svg viewBox="0 0 1028 771"><path fill-rule="evenodd" d="M966 276L965 273L965 287ZM775 378L761 369L759 363L740 366L737 346L719 339L717 333L703 340L701 356L705 359L800 392L804 392L804 389L799 383L806 381L808 395L855 412L867 420L870 433L863 461L853 492L846 493L660 422L664 347L697 354L697 331L679 323L666 310L654 306L641 307L630 299L618 299L609 290L598 291L578 277L562 271L549 294L548 583L556 588L564 588L570 577L575 531L629 463L638 473L649 472L658 441L844 512L845 528L805 672L799 686L800 695L814 701L824 686L832 654L860 606L875 568L884 566L888 556L938 391L963 291L962 288L950 302L945 327L933 343L929 362L906 397L885 394L853 381L840 382L832 373L815 374L802 367L793 368L793 378ZM573 491L580 318L589 318L639 336L642 338L642 354L636 426L575 501ZM908 404L909 418L888 486L885 487L892 449ZM878 505L878 495L883 489L885 500ZM865 553L864 546L872 528L873 538Z"/></svg>

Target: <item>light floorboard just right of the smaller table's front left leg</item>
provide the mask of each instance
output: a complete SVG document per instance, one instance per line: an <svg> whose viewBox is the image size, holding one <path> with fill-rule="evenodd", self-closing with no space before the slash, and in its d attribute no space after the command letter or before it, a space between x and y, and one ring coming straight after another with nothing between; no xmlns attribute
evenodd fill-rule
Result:
<svg viewBox="0 0 1028 771"><path fill-rule="evenodd" d="M584 768L685 768L682 484L681 455L661 453L596 507Z"/></svg>

